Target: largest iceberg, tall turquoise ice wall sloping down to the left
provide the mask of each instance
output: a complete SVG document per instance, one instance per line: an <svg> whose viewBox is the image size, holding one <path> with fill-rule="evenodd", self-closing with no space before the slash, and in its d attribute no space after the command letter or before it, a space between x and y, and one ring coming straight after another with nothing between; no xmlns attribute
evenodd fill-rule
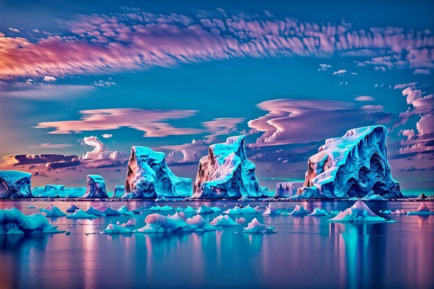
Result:
<svg viewBox="0 0 434 289"><path fill-rule="evenodd" d="M354 128L327 139L309 158L303 187L293 198L362 198L367 194L402 198L390 174L382 125Z"/></svg>

